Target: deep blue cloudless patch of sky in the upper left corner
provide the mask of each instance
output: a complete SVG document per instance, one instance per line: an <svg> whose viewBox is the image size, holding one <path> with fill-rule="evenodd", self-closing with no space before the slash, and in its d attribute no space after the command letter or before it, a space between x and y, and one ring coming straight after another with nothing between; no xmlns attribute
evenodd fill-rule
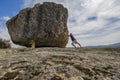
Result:
<svg viewBox="0 0 120 80"><path fill-rule="evenodd" d="M0 17L13 17L22 9L22 0L0 0Z"/></svg>

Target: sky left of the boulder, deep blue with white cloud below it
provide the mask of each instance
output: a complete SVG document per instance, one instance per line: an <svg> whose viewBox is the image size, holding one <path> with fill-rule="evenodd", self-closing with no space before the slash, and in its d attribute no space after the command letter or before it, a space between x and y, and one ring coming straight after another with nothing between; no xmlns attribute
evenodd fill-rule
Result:
<svg viewBox="0 0 120 80"><path fill-rule="evenodd" d="M0 38L10 40L6 21L22 9L22 0L0 0Z"/></svg>

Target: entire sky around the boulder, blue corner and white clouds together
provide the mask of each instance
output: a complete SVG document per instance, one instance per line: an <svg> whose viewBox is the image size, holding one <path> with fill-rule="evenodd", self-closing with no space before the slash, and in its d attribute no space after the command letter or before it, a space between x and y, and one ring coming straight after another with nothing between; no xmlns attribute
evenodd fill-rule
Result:
<svg viewBox="0 0 120 80"><path fill-rule="evenodd" d="M10 40L7 20L43 2L63 4L68 9L69 32L82 46L120 42L120 0L0 0L0 38ZM67 46L71 46L70 39Z"/></svg>

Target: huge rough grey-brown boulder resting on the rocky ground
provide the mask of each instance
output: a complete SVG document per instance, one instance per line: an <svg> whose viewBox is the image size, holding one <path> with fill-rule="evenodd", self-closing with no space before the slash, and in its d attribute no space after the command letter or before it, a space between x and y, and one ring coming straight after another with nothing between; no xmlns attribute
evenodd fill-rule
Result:
<svg viewBox="0 0 120 80"><path fill-rule="evenodd" d="M30 47L65 47L68 42L68 11L61 4L45 2L26 8L7 21L15 44Z"/></svg>

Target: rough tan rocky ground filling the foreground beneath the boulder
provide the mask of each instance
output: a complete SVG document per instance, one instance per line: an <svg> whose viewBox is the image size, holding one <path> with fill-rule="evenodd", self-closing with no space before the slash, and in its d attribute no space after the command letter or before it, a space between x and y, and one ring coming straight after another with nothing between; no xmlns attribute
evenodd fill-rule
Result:
<svg viewBox="0 0 120 80"><path fill-rule="evenodd" d="M120 49L0 49L0 80L120 80Z"/></svg>

